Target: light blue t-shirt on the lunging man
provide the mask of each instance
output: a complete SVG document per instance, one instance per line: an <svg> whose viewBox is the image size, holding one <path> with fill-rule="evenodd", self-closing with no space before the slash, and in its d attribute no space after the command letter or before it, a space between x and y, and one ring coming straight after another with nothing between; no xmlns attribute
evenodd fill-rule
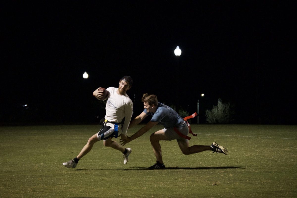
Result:
<svg viewBox="0 0 297 198"><path fill-rule="evenodd" d="M181 126L184 124L184 119L176 113L175 110L165 104L159 102L156 113L147 113L146 109L143 110L147 115L151 114L152 122L159 122L165 128Z"/></svg>

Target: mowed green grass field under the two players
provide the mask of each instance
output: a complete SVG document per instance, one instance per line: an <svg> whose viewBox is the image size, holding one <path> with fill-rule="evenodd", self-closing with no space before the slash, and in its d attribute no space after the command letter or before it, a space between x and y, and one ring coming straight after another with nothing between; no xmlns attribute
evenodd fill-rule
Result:
<svg viewBox="0 0 297 198"><path fill-rule="evenodd" d="M128 136L143 125L129 130ZM149 142L157 125L119 151L97 142L75 169L74 158L99 125L0 127L0 197L297 197L297 126L191 125L190 145L217 142L228 155L183 155L175 140L162 141L166 170ZM118 141L118 140L117 140Z"/></svg>

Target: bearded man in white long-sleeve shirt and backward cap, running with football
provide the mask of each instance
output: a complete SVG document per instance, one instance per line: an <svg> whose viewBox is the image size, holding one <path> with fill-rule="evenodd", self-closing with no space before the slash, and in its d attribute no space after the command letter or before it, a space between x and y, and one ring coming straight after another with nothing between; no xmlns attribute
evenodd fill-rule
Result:
<svg viewBox="0 0 297 198"><path fill-rule="evenodd" d="M124 148L118 142L113 141L113 137L118 137L120 132L121 139L127 139L127 129L132 117L133 102L126 94L131 88L133 80L130 76L124 76L119 82L119 88L109 87L106 90L109 92L105 106L105 121L102 128L96 134L89 138L87 144L80 151L78 156L64 162L63 165L67 168L75 168L78 161L89 153L94 143L103 140L103 145L119 150L123 153L124 164L129 161L129 155L132 152L131 148ZM100 88L100 87L99 87ZM93 92L93 95L98 99L103 99L103 91L99 88Z"/></svg>

